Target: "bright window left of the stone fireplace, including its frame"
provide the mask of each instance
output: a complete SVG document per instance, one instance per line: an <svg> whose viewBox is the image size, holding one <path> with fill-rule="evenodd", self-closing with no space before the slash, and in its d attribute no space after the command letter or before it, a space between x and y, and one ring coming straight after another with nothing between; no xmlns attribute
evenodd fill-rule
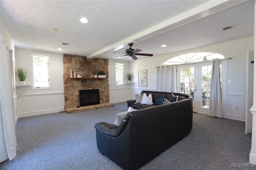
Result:
<svg viewBox="0 0 256 170"><path fill-rule="evenodd" d="M31 53L32 89L50 88L50 55Z"/></svg>

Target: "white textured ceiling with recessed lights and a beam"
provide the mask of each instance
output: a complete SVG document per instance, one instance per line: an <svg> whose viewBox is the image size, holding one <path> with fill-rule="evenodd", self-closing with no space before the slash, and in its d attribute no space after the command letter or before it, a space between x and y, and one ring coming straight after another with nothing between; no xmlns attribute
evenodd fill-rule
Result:
<svg viewBox="0 0 256 170"><path fill-rule="evenodd" d="M1 22L18 48L92 58L113 59L122 55L111 53L113 47L128 43L126 40L129 39L137 41L133 49L142 49L141 53L156 56L254 35L254 1L223 1L223 4L208 5L211 7L208 9L206 4L211 2L1 0L0 15ZM200 9L204 11L189 14L188 11L196 10L198 6L202 6ZM185 14L187 16L183 17ZM82 17L89 22L80 23L79 19ZM165 21L170 24L161 26ZM156 31L150 31L156 25ZM233 28L222 31L227 26ZM58 31L53 31L54 28ZM162 44L167 47L160 47ZM58 51L58 48L63 51ZM116 52L123 53L127 48ZM93 55L95 53L97 55ZM132 59L124 56L121 60Z"/></svg>

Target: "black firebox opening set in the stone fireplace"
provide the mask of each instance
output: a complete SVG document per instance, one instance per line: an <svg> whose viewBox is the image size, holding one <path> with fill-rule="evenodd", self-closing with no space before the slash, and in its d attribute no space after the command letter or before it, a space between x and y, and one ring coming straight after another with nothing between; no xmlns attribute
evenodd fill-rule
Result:
<svg viewBox="0 0 256 170"><path fill-rule="evenodd" d="M79 90L79 106L91 106L100 104L100 89L83 89Z"/></svg>

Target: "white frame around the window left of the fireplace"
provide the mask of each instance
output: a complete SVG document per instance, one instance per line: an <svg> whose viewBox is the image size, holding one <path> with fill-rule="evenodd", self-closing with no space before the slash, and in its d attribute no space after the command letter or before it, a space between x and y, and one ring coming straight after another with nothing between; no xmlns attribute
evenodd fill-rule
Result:
<svg viewBox="0 0 256 170"><path fill-rule="evenodd" d="M48 87L36 87L34 83L34 56L47 57L48 59ZM50 55L40 53L30 53L30 72L31 72L31 89L32 90L43 90L51 89L50 81Z"/></svg>

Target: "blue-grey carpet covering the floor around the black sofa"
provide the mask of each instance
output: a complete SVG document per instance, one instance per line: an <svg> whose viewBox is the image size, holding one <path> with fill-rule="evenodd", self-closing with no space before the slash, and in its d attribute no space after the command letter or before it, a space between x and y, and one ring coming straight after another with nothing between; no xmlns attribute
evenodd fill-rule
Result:
<svg viewBox="0 0 256 170"><path fill-rule="evenodd" d="M22 117L16 125L17 157L1 170L122 170L98 152L94 124L114 123L127 103L80 113ZM251 135L245 123L194 113L190 134L141 170L229 170L248 163Z"/></svg>

